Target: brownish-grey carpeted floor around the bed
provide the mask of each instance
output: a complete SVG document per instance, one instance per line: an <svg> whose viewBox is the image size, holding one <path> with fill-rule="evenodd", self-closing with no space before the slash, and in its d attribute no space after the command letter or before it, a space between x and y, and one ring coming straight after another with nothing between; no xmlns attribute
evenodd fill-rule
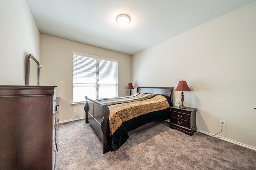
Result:
<svg viewBox="0 0 256 170"><path fill-rule="evenodd" d="M56 170L253 170L256 151L195 132L189 136L164 121L129 134L114 152L84 119L59 126Z"/></svg>

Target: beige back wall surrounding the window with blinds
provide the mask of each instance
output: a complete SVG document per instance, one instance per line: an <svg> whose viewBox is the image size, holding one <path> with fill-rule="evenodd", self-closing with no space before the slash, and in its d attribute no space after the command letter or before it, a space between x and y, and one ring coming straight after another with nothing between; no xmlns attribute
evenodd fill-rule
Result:
<svg viewBox="0 0 256 170"><path fill-rule="evenodd" d="M84 105L72 106L72 51L118 60L118 96L128 95L126 86L131 81L131 56L106 49L40 35L41 85L57 85L60 97L60 122L84 117ZM86 94L84 94L86 96ZM89 96L90 97L90 96ZM76 108L76 112L73 112Z"/></svg>

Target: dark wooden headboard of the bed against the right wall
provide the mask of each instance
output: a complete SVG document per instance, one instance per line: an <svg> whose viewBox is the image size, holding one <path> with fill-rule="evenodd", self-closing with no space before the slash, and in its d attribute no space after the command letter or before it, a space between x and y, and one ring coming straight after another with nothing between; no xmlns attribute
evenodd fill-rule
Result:
<svg viewBox="0 0 256 170"><path fill-rule="evenodd" d="M173 103L173 87L137 87L138 93L158 94L168 97Z"/></svg>

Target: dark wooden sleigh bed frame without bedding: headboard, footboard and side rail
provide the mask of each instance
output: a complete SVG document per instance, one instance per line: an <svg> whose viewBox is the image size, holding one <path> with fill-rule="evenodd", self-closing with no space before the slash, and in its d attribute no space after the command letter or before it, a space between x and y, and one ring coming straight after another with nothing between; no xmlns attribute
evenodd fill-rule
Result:
<svg viewBox="0 0 256 170"><path fill-rule="evenodd" d="M173 87L138 87L137 88L138 93L163 95L168 97L173 103L172 91L173 91ZM95 132L98 134L98 136L102 140L103 153L109 152L110 151L109 108L107 105L103 105L88 97L85 97L85 98L86 98L86 104L84 106L85 121L86 123L90 123L92 128L94 128ZM135 132L142 128L152 126L161 121L165 121L165 120L158 119L158 120L152 121L151 123L142 125L134 130L129 131L128 133Z"/></svg>

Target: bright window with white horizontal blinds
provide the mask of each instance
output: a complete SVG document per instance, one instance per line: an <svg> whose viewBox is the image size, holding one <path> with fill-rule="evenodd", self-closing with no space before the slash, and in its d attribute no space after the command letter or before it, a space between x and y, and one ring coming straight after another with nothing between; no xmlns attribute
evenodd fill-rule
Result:
<svg viewBox="0 0 256 170"><path fill-rule="evenodd" d="M118 96L118 61L73 52L73 103Z"/></svg>

